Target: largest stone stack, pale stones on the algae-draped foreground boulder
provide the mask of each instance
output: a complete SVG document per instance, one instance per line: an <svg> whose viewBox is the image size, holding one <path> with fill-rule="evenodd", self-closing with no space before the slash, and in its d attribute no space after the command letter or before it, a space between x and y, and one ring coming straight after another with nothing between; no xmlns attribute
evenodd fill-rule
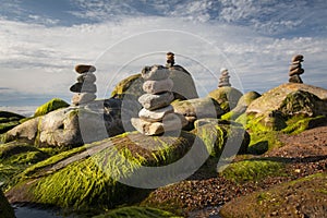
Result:
<svg viewBox="0 0 327 218"><path fill-rule="evenodd" d="M142 70L143 90L138 98L143 106L138 118L132 118L133 126L145 135L158 135L167 131L181 130L187 124L185 118L174 113L170 105L174 99L173 82L169 78L170 71L162 65L146 66Z"/></svg>

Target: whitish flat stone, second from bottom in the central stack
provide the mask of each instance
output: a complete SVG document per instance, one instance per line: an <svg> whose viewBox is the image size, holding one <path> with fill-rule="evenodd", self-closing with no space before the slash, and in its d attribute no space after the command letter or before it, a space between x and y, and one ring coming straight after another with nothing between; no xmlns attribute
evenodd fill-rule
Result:
<svg viewBox="0 0 327 218"><path fill-rule="evenodd" d="M143 108L142 110L140 110L138 117L149 122L156 122L156 121L161 121L165 116L172 112L173 112L173 107L170 105L165 108L159 108L156 110L147 110Z"/></svg>

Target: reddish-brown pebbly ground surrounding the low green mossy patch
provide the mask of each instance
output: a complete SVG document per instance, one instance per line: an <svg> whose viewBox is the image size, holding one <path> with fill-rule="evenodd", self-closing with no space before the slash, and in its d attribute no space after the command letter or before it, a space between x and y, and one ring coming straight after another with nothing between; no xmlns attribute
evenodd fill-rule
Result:
<svg viewBox="0 0 327 218"><path fill-rule="evenodd" d="M284 171L281 174L268 175L259 181L233 182L222 175L216 177L198 171L187 181L158 189L145 201L146 205L161 205L168 209L179 205L179 213L189 217L219 217L219 206L237 198L257 191L265 191L278 184L293 181L315 173L327 172L327 126L319 126L307 130L298 135L282 135L280 141L284 146L272 149L262 156L243 156L238 159L266 158L278 160L284 164ZM320 185L317 183L316 185ZM310 183L315 186L315 183ZM289 187L290 193L296 193L296 186ZM312 198L314 193L306 193L305 196L294 195L289 204L300 205L301 197ZM306 202L306 204L308 204ZM327 207L327 203L325 204ZM327 213L327 208L325 211ZM282 211L284 210L284 213ZM279 215L287 215L288 208L281 209ZM258 211L259 213L259 211ZM274 213L272 213L274 215ZM278 214L275 214L278 216ZM299 211L299 217L301 213ZM320 216L319 216L320 215ZM322 217L317 214L316 217ZM255 214L254 214L255 216ZM255 217L259 217L256 214ZM302 214L302 217L305 217Z"/></svg>

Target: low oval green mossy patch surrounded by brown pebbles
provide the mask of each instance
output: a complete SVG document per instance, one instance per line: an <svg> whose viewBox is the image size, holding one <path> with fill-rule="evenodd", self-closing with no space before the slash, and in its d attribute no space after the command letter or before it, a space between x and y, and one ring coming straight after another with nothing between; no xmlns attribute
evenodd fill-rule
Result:
<svg viewBox="0 0 327 218"><path fill-rule="evenodd" d="M271 160L249 159L230 164L221 173L228 180L243 183L247 181L261 181L269 175L278 175L283 172L284 165Z"/></svg>

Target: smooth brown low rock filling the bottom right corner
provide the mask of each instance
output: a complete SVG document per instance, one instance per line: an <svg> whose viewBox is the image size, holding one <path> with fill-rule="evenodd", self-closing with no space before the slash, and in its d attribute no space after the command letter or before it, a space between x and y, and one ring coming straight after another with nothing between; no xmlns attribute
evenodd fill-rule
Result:
<svg viewBox="0 0 327 218"><path fill-rule="evenodd" d="M313 174L235 198L221 217L325 217L327 174Z"/></svg>

